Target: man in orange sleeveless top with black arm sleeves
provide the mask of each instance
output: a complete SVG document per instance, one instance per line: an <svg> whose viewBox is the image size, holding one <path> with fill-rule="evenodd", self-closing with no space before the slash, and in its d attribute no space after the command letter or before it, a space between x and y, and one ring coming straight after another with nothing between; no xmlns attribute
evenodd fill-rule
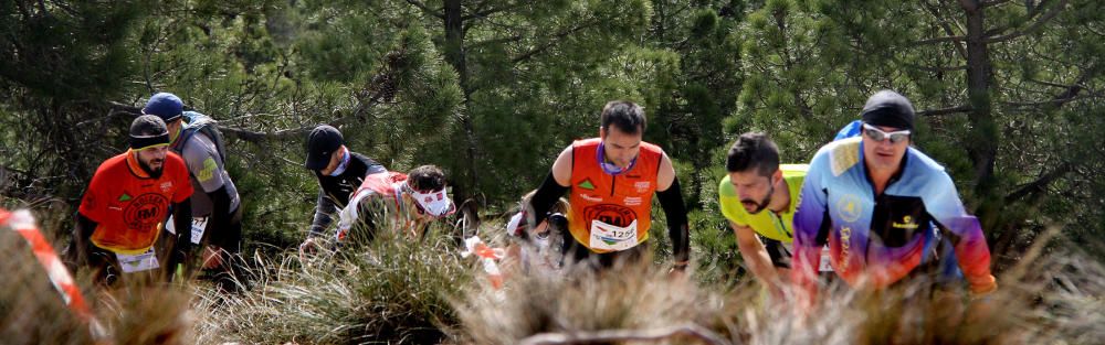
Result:
<svg viewBox="0 0 1105 345"><path fill-rule="evenodd" d="M608 103L602 109L599 138L578 140L566 148L532 198L532 209L549 209L569 192L571 211L566 239L569 261L608 268L615 261L640 258L652 225L655 194L667 216L675 269L690 257L686 208L672 160L659 147L643 142L644 110L629 101ZM535 215L539 224L546 215Z"/></svg>

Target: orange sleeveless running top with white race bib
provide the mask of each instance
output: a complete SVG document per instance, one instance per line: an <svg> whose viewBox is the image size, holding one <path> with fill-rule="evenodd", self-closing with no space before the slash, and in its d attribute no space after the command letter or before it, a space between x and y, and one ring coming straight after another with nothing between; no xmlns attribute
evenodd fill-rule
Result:
<svg viewBox="0 0 1105 345"><path fill-rule="evenodd" d="M568 230L593 252L633 248L649 239L652 195L664 151L641 142L632 169L611 175L599 166L599 138L571 144L571 193Z"/></svg>

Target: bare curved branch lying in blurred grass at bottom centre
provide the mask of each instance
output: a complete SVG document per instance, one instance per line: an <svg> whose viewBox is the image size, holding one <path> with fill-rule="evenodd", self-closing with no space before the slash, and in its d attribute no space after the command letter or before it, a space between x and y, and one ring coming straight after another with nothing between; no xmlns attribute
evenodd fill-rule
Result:
<svg viewBox="0 0 1105 345"><path fill-rule="evenodd" d="M614 342L656 342L673 336L684 335L711 345L729 345L720 336L698 325L683 325L656 330L610 330L597 332L578 332L571 334L543 333L527 337L520 342L524 345L561 345L561 344L596 344Z"/></svg>

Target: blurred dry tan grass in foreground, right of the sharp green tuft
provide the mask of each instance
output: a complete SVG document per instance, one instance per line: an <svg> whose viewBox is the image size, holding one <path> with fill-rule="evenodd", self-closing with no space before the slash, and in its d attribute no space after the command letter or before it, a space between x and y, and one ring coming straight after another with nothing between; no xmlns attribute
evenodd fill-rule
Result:
<svg viewBox="0 0 1105 345"><path fill-rule="evenodd" d="M594 331L646 334L673 325L701 326L732 344L1099 344L1105 339L1102 265L1070 251L1032 257L999 278L1000 290L979 299L919 281L882 291L830 284L806 310L769 299L747 279L736 284L692 283L696 279L673 279L649 265L601 274L577 271L567 279L523 276L508 281L503 291L472 285L454 304L463 337L473 344L529 343L535 334L549 333L564 341L538 343L591 343L587 339L610 339ZM706 341L676 336L661 343Z"/></svg>

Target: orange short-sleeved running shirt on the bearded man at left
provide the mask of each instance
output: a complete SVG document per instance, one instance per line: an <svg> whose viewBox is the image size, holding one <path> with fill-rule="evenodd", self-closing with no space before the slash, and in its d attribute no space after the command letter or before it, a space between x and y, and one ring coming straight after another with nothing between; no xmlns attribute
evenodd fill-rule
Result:
<svg viewBox="0 0 1105 345"><path fill-rule="evenodd" d="M131 150L99 164L80 208L97 223L92 233L96 247L137 255L154 245L169 217L169 205L192 195L188 169L179 155L166 154L161 170L160 177L150 177Z"/></svg>

